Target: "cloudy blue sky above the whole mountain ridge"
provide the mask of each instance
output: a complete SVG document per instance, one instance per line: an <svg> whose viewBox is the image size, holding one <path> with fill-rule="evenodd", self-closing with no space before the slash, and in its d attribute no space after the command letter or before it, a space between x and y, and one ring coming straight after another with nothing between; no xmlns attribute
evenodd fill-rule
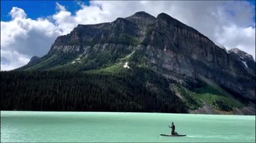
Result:
<svg viewBox="0 0 256 143"><path fill-rule="evenodd" d="M57 36L77 24L110 22L146 11L182 21L218 46L255 59L255 1L12 1L1 0L1 70L49 52Z"/></svg>

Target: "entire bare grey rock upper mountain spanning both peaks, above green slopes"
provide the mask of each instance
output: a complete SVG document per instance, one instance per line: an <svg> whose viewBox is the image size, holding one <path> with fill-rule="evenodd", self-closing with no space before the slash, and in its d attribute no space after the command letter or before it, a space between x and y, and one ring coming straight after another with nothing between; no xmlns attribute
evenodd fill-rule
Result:
<svg viewBox="0 0 256 143"><path fill-rule="evenodd" d="M207 79L238 98L255 102L251 55L237 48L226 51L165 13L153 17L138 12L110 23L78 25L70 34L59 36L46 56L72 54L75 58L67 66L76 63L72 65L84 67L79 70L88 70L115 64L136 52L170 81L193 87ZM108 58L102 60L102 55ZM89 62L97 66L88 68Z"/></svg>

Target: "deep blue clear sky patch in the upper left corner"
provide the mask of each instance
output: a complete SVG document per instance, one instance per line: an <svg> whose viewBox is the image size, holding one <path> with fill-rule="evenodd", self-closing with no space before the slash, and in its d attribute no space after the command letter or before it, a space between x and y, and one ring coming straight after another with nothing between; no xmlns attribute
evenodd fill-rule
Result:
<svg viewBox="0 0 256 143"><path fill-rule="evenodd" d="M85 5L89 5L89 1L82 1ZM56 12L56 3L65 5L65 8L71 13L80 9L77 5L77 1L12 1L12 0L1 0L1 21L9 21L11 16L8 14L12 7L19 7L24 9L27 16L31 19L36 19L38 17L46 17L48 15L53 15Z"/></svg>

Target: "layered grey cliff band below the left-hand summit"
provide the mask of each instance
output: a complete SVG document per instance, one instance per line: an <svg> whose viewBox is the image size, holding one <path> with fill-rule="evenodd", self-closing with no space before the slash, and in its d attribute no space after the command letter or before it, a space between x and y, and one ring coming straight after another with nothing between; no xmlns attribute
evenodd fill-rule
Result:
<svg viewBox="0 0 256 143"><path fill-rule="evenodd" d="M105 47L110 44L137 46L145 36L149 24L156 18L145 12L138 12L127 18L117 18L110 23L96 25L78 25L70 34L59 36L49 54L75 52L82 54L90 52L95 45ZM98 50L98 49L97 49ZM106 49L108 50L108 49ZM129 49L133 50L133 49Z"/></svg>

